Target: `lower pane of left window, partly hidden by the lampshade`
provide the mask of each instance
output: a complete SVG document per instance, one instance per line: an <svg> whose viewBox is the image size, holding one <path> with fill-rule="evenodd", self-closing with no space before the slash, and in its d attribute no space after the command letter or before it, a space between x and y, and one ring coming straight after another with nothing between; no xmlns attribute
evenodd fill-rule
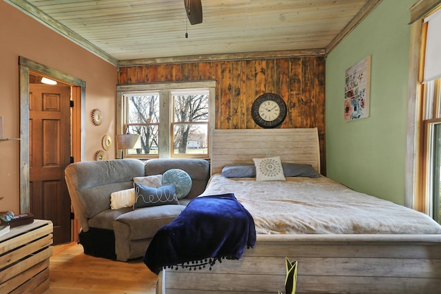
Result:
<svg viewBox="0 0 441 294"><path fill-rule="evenodd" d="M127 155L158 154L158 125L130 125L128 131L140 138L133 149L127 149Z"/></svg>

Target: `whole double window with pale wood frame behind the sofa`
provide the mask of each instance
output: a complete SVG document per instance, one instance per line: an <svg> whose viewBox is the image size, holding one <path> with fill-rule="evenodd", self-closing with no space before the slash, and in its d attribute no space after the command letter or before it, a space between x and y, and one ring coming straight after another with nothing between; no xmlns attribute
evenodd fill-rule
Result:
<svg viewBox="0 0 441 294"><path fill-rule="evenodd" d="M123 150L123 157L209 158L214 85L209 81L119 87L119 133L140 137L133 149Z"/></svg>

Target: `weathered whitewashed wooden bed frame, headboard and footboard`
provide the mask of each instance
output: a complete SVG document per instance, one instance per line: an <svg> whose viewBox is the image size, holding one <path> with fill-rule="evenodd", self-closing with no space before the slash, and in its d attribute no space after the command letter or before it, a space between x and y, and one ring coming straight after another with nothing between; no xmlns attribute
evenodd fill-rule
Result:
<svg viewBox="0 0 441 294"><path fill-rule="evenodd" d="M317 129L215 130L212 174L280 155L320 171ZM440 293L441 235L257 235L240 260L212 271L166 269L156 293L285 292L285 257L298 260L296 293Z"/></svg>

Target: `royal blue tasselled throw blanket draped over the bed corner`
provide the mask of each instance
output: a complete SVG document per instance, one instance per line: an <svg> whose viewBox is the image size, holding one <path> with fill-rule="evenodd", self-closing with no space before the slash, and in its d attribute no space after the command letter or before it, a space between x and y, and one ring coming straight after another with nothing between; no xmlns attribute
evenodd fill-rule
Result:
<svg viewBox="0 0 441 294"><path fill-rule="evenodd" d="M166 266L211 269L221 258L238 260L254 244L254 220L234 194L202 196L156 232L143 260L156 275Z"/></svg>

